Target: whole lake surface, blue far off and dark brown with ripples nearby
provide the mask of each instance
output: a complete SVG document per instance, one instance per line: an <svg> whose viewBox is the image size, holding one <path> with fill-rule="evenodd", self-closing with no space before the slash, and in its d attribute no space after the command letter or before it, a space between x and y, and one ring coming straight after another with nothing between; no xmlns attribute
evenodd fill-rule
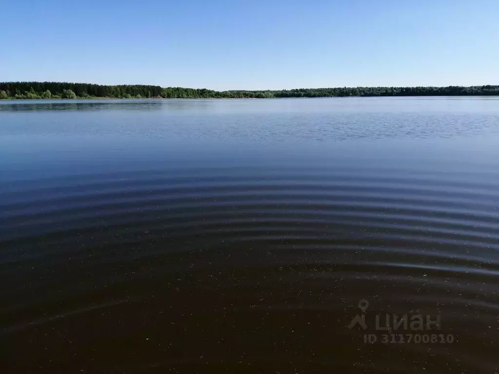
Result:
<svg viewBox="0 0 499 374"><path fill-rule="evenodd" d="M498 145L494 97L0 101L2 372L497 373Z"/></svg>

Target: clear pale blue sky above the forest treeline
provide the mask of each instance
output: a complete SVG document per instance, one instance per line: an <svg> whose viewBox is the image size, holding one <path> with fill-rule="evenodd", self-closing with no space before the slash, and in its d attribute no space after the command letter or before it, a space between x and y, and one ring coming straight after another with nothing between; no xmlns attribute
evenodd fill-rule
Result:
<svg viewBox="0 0 499 374"><path fill-rule="evenodd" d="M0 81L499 84L498 0L0 0Z"/></svg>

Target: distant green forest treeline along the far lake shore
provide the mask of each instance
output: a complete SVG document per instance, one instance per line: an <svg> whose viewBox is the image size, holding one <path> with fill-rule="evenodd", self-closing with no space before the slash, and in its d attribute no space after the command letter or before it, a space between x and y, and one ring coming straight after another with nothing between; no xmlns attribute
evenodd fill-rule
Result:
<svg viewBox="0 0 499 374"><path fill-rule="evenodd" d="M299 88L276 91L214 91L206 88L160 87L148 85L104 86L66 82L0 82L0 99L109 98L284 98L345 96L491 96L499 86L448 87L337 87Z"/></svg>

